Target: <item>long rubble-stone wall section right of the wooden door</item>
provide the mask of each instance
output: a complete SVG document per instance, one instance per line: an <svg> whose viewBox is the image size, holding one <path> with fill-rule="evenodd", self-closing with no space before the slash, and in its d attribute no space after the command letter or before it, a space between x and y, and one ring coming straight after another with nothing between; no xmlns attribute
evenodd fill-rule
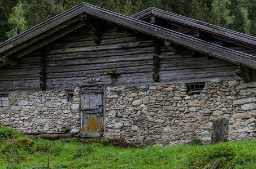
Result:
<svg viewBox="0 0 256 169"><path fill-rule="evenodd" d="M256 137L256 83L207 82L199 95L186 84L107 88L105 136L137 144L211 141L212 120L229 120L229 140Z"/></svg>

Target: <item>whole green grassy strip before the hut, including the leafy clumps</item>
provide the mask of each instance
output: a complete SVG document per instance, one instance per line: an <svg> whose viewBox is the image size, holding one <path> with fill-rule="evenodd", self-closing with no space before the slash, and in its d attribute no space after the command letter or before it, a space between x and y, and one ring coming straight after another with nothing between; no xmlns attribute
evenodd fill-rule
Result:
<svg viewBox="0 0 256 169"><path fill-rule="evenodd" d="M21 140L23 139L23 140ZM0 168L256 168L256 139L216 145L120 148L99 138L3 139ZM20 140L20 141L18 141ZM199 161L199 162L198 162ZM227 164L227 165L225 165Z"/></svg>

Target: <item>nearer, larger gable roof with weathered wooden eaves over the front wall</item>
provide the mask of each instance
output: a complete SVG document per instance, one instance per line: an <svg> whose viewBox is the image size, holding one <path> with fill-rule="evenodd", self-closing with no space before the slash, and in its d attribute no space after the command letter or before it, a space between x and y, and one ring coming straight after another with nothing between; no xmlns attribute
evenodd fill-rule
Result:
<svg viewBox="0 0 256 169"><path fill-rule="evenodd" d="M153 8L151 8L151 10L148 9L147 11L150 13L152 9ZM215 45L214 43L203 41L202 39L194 38L186 34L163 28L162 26L146 23L145 21L133 18L141 16L141 14L144 14L143 12L145 13L146 10L142 11L140 14L128 17L105 10L103 8L89 5L88 3L80 3L80 5L52 17L51 19L46 20L45 22L1 43L0 60L1 56L11 59L22 57L29 52L47 45L47 43L50 43L55 39L58 39L63 35L80 28L84 25L84 23L80 20L80 14L85 13L87 15L97 17L98 19L105 20L109 23L135 30L139 33L144 33L162 40L171 41L176 45L201 52L202 54L219 57L220 59L231 61L232 63L242 64L256 69L256 57L253 55L231 50L226 47ZM251 41L250 43L256 42L254 37L249 38L248 41ZM0 62L0 67L5 64L7 63Z"/></svg>

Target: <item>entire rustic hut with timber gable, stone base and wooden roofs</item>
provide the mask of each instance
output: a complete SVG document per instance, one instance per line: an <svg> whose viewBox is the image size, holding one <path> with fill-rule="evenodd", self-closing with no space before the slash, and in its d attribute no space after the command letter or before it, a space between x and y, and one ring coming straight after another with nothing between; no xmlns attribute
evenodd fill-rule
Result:
<svg viewBox="0 0 256 169"><path fill-rule="evenodd" d="M149 8L81 3L0 44L0 124L137 144L255 137L256 38Z"/></svg>

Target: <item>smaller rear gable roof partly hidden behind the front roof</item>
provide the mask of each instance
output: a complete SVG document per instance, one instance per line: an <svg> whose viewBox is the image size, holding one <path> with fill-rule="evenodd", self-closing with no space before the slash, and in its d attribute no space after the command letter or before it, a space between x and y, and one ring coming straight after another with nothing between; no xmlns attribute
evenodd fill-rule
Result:
<svg viewBox="0 0 256 169"><path fill-rule="evenodd" d="M152 16L154 16L154 24L156 25L183 34L189 34L192 37L195 37L197 33L203 34L203 37L197 38L203 38L203 40L207 42L214 41L214 39L215 41L227 42L229 43L227 48L233 48L236 51L256 56L256 37L247 34L204 23L189 17L173 14L172 12L160 10L155 7L147 8L146 10L138 12L131 17L150 23L150 18ZM198 34L197 36L199 36ZM240 46L240 48L234 46ZM248 50L245 50L245 48Z"/></svg>

